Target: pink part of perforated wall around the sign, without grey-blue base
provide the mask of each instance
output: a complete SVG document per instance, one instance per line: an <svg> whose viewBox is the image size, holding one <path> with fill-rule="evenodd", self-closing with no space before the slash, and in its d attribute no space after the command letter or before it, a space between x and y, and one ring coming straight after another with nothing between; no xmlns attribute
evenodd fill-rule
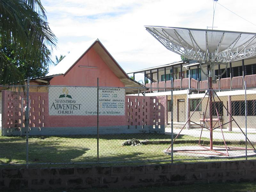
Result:
<svg viewBox="0 0 256 192"><path fill-rule="evenodd" d="M24 127L26 102L23 94L2 91L2 128ZM97 116L49 116L48 93L30 92L30 127L97 126ZM164 125L165 96L125 96L124 116L99 116L99 126ZM22 115L23 111L23 115ZM22 116L21 116L22 115ZM21 125L22 124L22 125Z"/></svg>

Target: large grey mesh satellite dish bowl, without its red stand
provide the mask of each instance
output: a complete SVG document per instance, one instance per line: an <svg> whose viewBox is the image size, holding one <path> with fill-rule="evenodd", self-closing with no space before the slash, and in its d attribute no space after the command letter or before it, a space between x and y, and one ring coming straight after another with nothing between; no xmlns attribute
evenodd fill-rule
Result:
<svg viewBox="0 0 256 192"><path fill-rule="evenodd" d="M212 80L226 72L228 62L256 55L256 33L161 26L145 28L168 50L197 60L201 71ZM225 66L219 76L214 74L215 65Z"/></svg>

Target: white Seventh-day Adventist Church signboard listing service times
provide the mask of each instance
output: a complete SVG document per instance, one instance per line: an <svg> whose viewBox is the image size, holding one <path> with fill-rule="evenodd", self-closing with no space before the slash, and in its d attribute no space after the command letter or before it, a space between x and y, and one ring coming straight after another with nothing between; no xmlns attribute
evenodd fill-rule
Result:
<svg viewBox="0 0 256 192"><path fill-rule="evenodd" d="M99 88L99 115L124 115L125 90ZM97 88L50 87L49 115L97 115Z"/></svg>

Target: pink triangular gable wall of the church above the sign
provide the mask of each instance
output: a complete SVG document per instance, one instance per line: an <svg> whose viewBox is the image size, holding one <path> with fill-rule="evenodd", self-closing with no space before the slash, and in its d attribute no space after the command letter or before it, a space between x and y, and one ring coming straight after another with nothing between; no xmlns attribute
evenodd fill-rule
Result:
<svg viewBox="0 0 256 192"><path fill-rule="evenodd" d="M98 68L81 68L82 66ZM100 86L124 87L124 84L100 58L94 49L90 49L64 76L55 76L50 81L51 85L70 85L70 86L97 86L99 77Z"/></svg>

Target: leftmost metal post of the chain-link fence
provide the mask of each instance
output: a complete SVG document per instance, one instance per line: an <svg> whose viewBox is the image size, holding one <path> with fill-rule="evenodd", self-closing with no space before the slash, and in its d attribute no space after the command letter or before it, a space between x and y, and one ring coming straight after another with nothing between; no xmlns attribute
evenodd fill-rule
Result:
<svg viewBox="0 0 256 192"><path fill-rule="evenodd" d="M27 104L26 104L26 125L25 125L25 130L26 130L26 168L28 169L28 126L29 126L29 77L27 80Z"/></svg>

